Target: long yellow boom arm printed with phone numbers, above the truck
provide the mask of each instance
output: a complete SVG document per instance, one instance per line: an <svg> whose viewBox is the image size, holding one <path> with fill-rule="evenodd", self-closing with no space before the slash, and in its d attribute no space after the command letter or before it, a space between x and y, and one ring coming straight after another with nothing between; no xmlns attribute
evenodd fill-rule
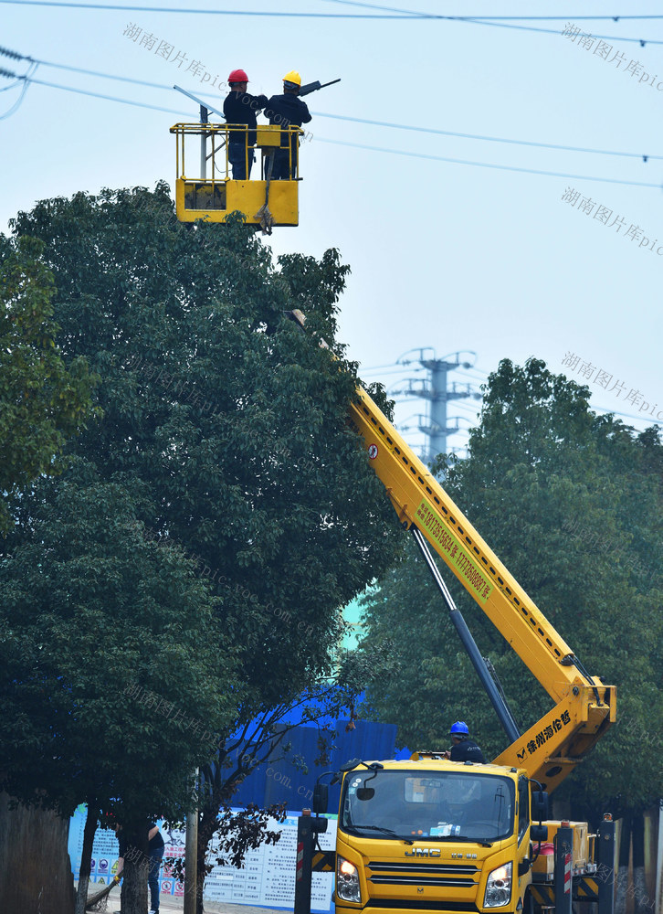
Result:
<svg viewBox="0 0 663 914"><path fill-rule="evenodd" d="M518 581L363 388L350 418L405 529L416 526L557 702L495 764L524 768L551 792L615 720L616 688L589 675Z"/></svg>

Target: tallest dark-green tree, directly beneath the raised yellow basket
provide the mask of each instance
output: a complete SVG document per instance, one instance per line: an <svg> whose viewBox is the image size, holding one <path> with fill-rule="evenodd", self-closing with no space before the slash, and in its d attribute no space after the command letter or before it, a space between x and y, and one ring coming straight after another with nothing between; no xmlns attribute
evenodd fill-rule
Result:
<svg viewBox="0 0 663 914"><path fill-rule="evenodd" d="M224 746L327 675L338 607L395 554L395 519L346 422L356 367L336 310L348 268L334 250L275 265L239 220L183 225L164 185L44 201L12 229L46 244L62 352L100 377L97 420L68 454L131 493L132 537L184 576L193 564L214 606L219 669L232 661L236 675ZM331 350L287 319L295 307ZM134 713L122 708L118 726ZM151 763L137 752L136 766ZM126 816L138 800L118 793Z"/></svg>

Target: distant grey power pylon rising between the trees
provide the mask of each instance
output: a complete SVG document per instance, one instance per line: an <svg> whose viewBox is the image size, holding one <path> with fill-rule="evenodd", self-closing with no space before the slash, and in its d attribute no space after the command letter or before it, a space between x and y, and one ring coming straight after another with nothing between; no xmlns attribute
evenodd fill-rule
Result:
<svg viewBox="0 0 663 914"><path fill-rule="evenodd" d="M407 358L411 353L418 353L415 358ZM461 356L472 356L472 361L461 360ZM458 383L454 381L449 387L448 374L457 368L474 367L476 353L474 352L456 352L444 358L437 358L435 349L431 346L419 349L411 349L397 360L398 365L412 365L418 363L421 367L426 368L427 376L425 379L407 378L407 388L395 391L397 394L403 394L406 397L416 397L426 399L428 408L426 417L418 418L417 428L426 435L427 444L423 454L424 461L430 462L439 453L447 453L447 437L458 431L458 419L455 426L449 426L447 416L447 404L455 399L481 399L478 391L473 390L470 384Z"/></svg>

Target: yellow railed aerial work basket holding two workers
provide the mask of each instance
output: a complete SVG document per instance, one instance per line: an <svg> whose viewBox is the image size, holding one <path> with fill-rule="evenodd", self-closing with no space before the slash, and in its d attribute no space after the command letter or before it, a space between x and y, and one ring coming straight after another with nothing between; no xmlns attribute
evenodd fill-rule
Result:
<svg viewBox="0 0 663 914"><path fill-rule="evenodd" d="M300 127L264 124L254 130L246 124L176 123L171 133L177 144L175 207L181 222L225 222L229 213L239 210L247 225L299 225ZM259 163L253 165L253 174L245 181L232 178L228 159L231 133L233 143L238 138L242 141L245 174L249 173L249 157L252 161L254 151L260 153ZM247 145L249 133L256 133L255 146ZM281 136L287 137L287 145L281 145ZM192 147L192 138L197 140L198 150ZM288 163L289 178L276 180L271 176L277 153L283 164Z"/></svg>

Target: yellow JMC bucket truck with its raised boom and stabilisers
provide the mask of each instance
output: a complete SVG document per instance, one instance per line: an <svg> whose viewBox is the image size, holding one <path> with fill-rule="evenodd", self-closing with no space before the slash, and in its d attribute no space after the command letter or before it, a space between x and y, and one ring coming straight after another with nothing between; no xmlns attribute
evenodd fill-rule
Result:
<svg viewBox="0 0 663 914"><path fill-rule="evenodd" d="M300 312L290 316L303 327ZM612 914L611 817L590 834L586 823L551 821L548 797L615 721L615 686L587 672L363 388L349 418L422 551L509 745L489 764L435 750L408 761L348 762L333 772L342 781L333 854L314 852L315 835L326 830L319 813L327 811L327 785L319 781L316 815L300 818L295 914L304 914L307 896L310 909L310 871L332 868L336 914L571 914L581 902ZM431 549L551 696L551 710L525 733Z"/></svg>

